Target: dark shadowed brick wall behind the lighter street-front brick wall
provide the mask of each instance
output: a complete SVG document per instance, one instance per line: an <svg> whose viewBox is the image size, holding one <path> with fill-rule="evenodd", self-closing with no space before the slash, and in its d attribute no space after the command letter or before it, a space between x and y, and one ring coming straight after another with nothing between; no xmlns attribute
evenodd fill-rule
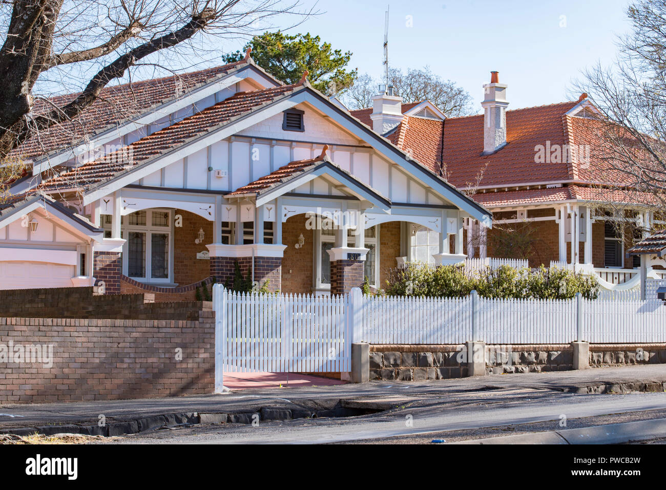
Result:
<svg viewBox="0 0 666 490"><path fill-rule="evenodd" d="M93 288L0 290L0 316L198 320L211 302L155 302L155 294L93 295Z"/></svg>

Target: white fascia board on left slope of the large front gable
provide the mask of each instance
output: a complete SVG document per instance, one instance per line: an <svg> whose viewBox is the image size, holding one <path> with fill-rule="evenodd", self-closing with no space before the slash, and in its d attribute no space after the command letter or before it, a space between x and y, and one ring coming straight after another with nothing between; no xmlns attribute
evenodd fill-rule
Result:
<svg viewBox="0 0 666 490"><path fill-rule="evenodd" d="M283 99L274 104L266 106L265 109L259 109L255 113L251 113L247 117L243 117L238 121L226 124L216 130L207 132L204 136L200 136L195 140L182 144L181 146L174 148L166 154L157 156L155 160L141 164L136 168L129 170L129 172L125 172L121 176L114 178L110 182L106 182L103 186L99 186L95 190L85 194L83 196L83 204L87 205L91 202L95 202L96 200L111 194L111 192L115 192L116 190L136 182L140 178L144 178L153 172L157 172L157 170L160 170L161 168L164 168L165 166L180 160L180 158L183 158L184 156L188 156L194 152L197 152L198 150L202 150L203 148L206 148L216 141L233 136L237 132L249 128L250 126L254 126L254 124L258 124L259 122L264 121L265 119L268 119L274 115L280 114L287 109L291 109L297 104L298 102L294 101L294 99Z"/></svg>

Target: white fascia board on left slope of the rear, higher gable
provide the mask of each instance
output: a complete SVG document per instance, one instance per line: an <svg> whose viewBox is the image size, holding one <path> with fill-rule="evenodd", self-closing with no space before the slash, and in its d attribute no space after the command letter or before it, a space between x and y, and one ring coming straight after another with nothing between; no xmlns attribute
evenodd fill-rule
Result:
<svg viewBox="0 0 666 490"><path fill-rule="evenodd" d="M248 70L252 70L254 72L253 75L256 76L248 77L248 75L246 74L246 71ZM213 95L214 93L217 93L220 90L226 89L227 87L230 87L247 78L258 79L260 83L268 84L264 85L265 87L277 86L275 84L275 81L272 81L265 75L262 75L260 71L254 69L252 65L248 65L247 67L244 67L239 71L235 71L234 73L226 75L226 77L222 77L221 79L212 81L206 85L203 85L202 87L198 87L198 89L194 89L193 91L188 92L180 99L169 101L161 106L148 109L145 113L143 113L143 115L137 117L137 119L132 119L131 121L123 122L123 124L120 124L115 128L109 128L108 130L101 132L100 134L97 134L96 136L91 138L87 144L80 144L75 148L65 148L61 150L61 152L54 154L53 156L45 156L42 161L35 162L35 164L33 164L33 175L37 175L52 166L64 164L71 158L83 154L84 152L89 150L91 146L93 148L97 148L101 144L105 144L108 143L109 141L115 140L116 138L125 136L125 134L129 134L139 128L142 128L147 124L151 124L157 121L158 119L165 117L166 114L172 114L175 113L176 111L180 111L180 109L183 109L188 105L192 105L196 101L205 99L206 97Z"/></svg>

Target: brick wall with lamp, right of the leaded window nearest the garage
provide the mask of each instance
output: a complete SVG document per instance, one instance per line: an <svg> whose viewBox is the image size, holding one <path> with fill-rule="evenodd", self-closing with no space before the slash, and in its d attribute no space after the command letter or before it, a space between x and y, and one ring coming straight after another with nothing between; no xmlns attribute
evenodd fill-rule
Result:
<svg viewBox="0 0 666 490"><path fill-rule="evenodd" d="M182 227L173 231L173 276L176 284L186 286L210 276L210 262L196 258L196 254L208 252L206 244L213 242L212 221L180 209L175 214L182 216ZM199 230L204 230L205 238L202 243L195 244Z"/></svg>

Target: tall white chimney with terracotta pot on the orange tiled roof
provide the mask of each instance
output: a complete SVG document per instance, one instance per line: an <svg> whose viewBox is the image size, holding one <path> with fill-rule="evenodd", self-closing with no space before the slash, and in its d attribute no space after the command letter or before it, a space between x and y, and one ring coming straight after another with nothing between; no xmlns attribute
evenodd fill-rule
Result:
<svg viewBox="0 0 666 490"><path fill-rule="evenodd" d="M490 83L484 85L484 153L492 153L506 144L506 87L499 83L498 72L490 72Z"/></svg>

